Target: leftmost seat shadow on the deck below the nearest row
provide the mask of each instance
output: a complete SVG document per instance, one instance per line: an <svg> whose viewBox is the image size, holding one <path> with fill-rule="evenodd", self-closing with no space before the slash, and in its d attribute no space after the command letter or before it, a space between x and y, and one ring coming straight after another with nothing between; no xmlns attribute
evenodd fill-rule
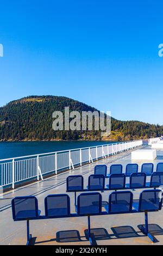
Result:
<svg viewBox="0 0 163 256"><path fill-rule="evenodd" d="M64 230L56 233L56 241L61 242L79 242L82 241L78 230Z"/></svg>

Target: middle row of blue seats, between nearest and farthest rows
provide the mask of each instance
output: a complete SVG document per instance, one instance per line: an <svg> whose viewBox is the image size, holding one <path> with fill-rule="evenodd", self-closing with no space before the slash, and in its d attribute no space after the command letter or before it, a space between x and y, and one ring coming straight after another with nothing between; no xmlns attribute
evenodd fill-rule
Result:
<svg viewBox="0 0 163 256"><path fill-rule="evenodd" d="M106 188L105 176L102 174L92 174L88 178L86 190L84 189L84 178L82 175L70 175L66 179L67 192L155 188L161 185L163 185L163 172L152 173L150 182L146 182L145 173L133 173L130 175L129 184L126 184L125 174L111 174L109 176L109 184L106 185Z"/></svg>

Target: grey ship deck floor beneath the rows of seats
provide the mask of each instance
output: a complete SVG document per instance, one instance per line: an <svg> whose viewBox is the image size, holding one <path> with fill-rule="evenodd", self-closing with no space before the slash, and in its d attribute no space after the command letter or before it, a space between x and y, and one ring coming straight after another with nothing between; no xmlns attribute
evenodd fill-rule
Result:
<svg viewBox="0 0 163 256"><path fill-rule="evenodd" d="M163 151L157 151L157 159L154 161L163 162ZM68 175L82 174L85 187L87 178L93 174L96 164L107 164L108 169L112 163L121 163L123 170L126 164L136 162L139 168L144 161L131 161L131 151L111 156L108 159L97 163L87 164L83 167L57 176L51 176L43 182L35 182L17 188L13 191L1 194L0 200L0 245L25 245L26 244L26 222L14 222L11 216L11 199L15 196L36 196L39 202L39 209L44 214L44 198L48 194L65 193L66 178ZM148 162L148 161L146 161ZM140 170L139 170L140 171ZM149 180L149 178L147 178ZM148 181L147 180L147 181ZM141 190L135 190L134 199L139 198ZM108 201L109 191L102 193L103 201ZM71 198L71 212L74 212L74 194L69 193ZM152 231L158 242L155 245L163 244L163 209L159 212L149 213L149 230ZM123 214L111 216L91 217L91 229L95 234L97 245L152 245L151 240L143 235L137 227L144 223L142 214ZM35 245L89 245L85 238L84 230L87 229L87 217L62 218L53 220L30 221L30 233L33 235Z"/></svg>

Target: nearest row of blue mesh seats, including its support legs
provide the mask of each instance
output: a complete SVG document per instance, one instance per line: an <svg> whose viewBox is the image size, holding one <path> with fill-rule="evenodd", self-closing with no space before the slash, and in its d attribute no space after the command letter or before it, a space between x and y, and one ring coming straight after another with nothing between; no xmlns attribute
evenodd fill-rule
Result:
<svg viewBox="0 0 163 256"><path fill-rule="evenodd" d="M145 213L145 227L141 231L154 242L155 238L148 231L148 212L159 211L162 208L162 192L160 190L145 190L140 193L139 200L133 200L130 191L112 192L108 204L103 206L99 192L81 193L77 198L76 212L71 213L70 197L67 194L50 194L45 198L45 215L40 215L37 198L34 196L15 197L12 199L12 218L14 221L27 221L27 245L32 235L29 233L30 220L46 220L48 218L67 218L87 216L87 237L93 245L90 216ZM102 211L104 207L104 211Z"/></svg>

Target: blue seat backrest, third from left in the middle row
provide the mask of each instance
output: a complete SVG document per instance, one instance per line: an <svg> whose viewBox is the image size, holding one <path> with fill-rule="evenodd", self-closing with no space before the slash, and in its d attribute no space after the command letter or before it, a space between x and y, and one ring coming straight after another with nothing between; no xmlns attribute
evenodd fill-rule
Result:
<svg viewBox="0 0 163 256"><path fill-rule="evenodd" d="M125 174L111 174L109 177L109 189L118 190L125 188L126 185L126 175Z"/></svg>

